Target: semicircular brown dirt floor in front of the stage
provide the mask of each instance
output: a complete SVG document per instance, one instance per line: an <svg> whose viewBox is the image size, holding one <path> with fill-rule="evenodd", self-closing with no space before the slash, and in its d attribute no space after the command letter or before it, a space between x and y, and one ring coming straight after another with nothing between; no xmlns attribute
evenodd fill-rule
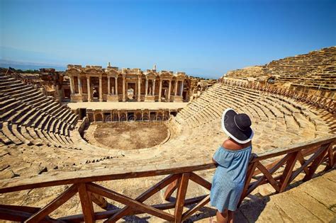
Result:
<svg viewBox="0 0 336 223"><path fill-rule="evenodd" d="M166 139L164 122L105 122L97 124L94 138L111 149L144 149Z"/></svg>

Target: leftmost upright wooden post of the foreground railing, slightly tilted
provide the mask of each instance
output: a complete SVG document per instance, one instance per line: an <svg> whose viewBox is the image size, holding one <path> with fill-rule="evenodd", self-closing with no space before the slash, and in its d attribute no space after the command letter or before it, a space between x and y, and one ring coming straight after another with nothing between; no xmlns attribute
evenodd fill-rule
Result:
<svg viewBox="0 0 336 223"><path fill-rule="evenodd" d="M91 193L87 190L85 183L80 183L78 185L78 193L82 204L82 211L85 222L94 222L94 206L92 205Z"/></svg>

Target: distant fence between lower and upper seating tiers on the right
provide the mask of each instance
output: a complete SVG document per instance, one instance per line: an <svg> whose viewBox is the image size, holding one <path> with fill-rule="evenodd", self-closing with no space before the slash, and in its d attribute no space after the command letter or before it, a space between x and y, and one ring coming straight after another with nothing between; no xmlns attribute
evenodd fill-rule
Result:
<svg viewBox="0 0 336 223"><path fill-rule="evenodd" d="M293 98L296 101L308 103L310 105L315 106L316 108L323 108L325 110L330 111L331 113L335 113L336 110L336 101L334 99L318 95L311 95L308 93L304 93L303 91L293 91L288 88L279 88L276 86L269 86L269 85L262 86L257 82L247 83L243 81L233 81L229 79L220 79L220 83L229 86L240 86L242 88L250 88L258 91L264 91L267 93L275 93L277 95Z"/></svg>

